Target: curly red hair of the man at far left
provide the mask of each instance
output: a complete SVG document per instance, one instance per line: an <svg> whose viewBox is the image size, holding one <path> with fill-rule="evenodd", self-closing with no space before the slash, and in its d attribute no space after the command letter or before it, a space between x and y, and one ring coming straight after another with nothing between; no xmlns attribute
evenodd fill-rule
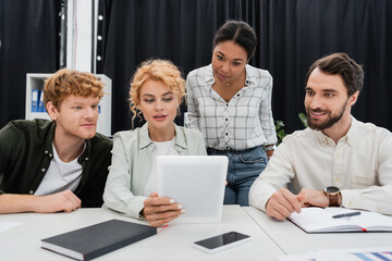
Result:
<svg viewBox="0 0 392 261"><path fill-rule="evenodd" d="M49 101L60 111L61 102L69 96L98 97L105 95L103 83L90 73L62 69L51 75L44 86L45 108Z"/></svg>

